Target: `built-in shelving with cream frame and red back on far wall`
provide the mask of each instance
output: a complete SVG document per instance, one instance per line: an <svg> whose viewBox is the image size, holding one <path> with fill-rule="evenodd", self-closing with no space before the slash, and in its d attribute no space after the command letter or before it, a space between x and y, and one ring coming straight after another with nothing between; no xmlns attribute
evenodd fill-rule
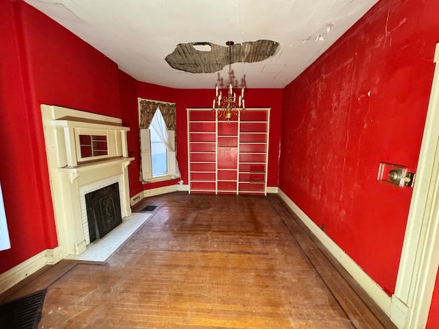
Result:
<svg viewBox="0 0 439 329"><path fill-rule="evenodd" d="M267 193L270 109L247 109L230 121L187 109L189 193Z"/></svg>

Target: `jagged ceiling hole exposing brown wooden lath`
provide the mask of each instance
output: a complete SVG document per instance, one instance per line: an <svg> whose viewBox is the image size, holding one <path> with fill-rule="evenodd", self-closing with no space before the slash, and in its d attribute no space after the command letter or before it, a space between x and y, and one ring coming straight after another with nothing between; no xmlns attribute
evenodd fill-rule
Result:
<svg viewBox="0 0 439 329"><path fill-rule="evenodd" d="M205 46L210 51L197 50ZM211 42L179 43L165 60L172 68L190 73L214 73L224 66L237 62L253 63L266 60L276 53L279 43L272 40L257 40L230 46L215 45Z"/></svg>

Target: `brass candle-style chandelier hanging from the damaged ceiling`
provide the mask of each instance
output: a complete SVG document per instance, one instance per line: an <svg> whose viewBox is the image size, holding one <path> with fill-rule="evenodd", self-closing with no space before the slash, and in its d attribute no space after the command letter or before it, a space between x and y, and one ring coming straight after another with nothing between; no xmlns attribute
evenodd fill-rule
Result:
<svg viewBox="0 0 439 329"><path fill-rule="evenodd" d="M228 46L228 79L226 81L219 75L217 83L215 84L215 99L213 99L213 112L217 114L217 117L224 117L228 121L232 118L234 114L239 117L241 111L246 110L244 101L244 90L246 88L246 75L241 78L241 84L239 84L235 73L232 70L232 47L235 45L233 41L227 41ZM239 97L234 91L234 89L241 88L239 92ZM224 95L223 95L223 90Z"/></svg>

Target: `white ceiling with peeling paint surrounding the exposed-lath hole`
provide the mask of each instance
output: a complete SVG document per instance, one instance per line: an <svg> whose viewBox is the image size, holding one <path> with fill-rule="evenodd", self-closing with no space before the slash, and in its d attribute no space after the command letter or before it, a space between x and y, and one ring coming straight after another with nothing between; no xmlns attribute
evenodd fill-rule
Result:
<svg viewBox="0 0 439 329"><path fill-rule="evenodd" d="M246 74L248 88L283 88L378 0L25 1L135 79L172 88L214 88L217 78L172 69L165 57L178 43L279 42L267 60L232 68Z"/></svg>

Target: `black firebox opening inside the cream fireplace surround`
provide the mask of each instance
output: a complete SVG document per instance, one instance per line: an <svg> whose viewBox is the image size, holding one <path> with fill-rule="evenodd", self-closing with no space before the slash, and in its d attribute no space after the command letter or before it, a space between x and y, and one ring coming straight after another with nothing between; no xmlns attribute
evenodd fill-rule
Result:
<svg viewBox="0 0 439 329"><path fill-rule="evenodd" d="M102 238L122 223L119 183L87 193L85 203L90 242Z"/></svg>

